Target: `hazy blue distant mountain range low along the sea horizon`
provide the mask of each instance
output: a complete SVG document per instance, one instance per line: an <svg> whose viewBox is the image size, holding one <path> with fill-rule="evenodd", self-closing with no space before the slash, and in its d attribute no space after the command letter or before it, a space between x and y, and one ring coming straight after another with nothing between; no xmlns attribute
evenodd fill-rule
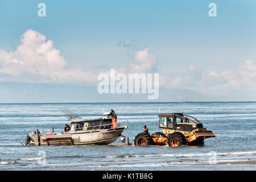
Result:
<svg viewBox="0 0 256 182"><path fill-rule="evenodd" d="M212 96L195 90L170 88L159 88L158 100L148 100L148 94L99 94L97 86L0 82L0 103L204 101L255 100L247 96Z"/></svg>

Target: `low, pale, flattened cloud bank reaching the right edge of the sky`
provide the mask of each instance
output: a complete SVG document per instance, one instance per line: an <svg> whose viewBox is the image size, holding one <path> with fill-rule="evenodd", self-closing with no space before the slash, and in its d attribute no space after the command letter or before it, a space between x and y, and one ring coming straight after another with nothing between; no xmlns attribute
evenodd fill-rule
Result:
<svg viewBox="0 0 256 182"><path fill-rule="evenodd" d="M213 95L253 94L256 91L256 64L245 60L221 72L204 72L189 65L185 73L166 79L171 88L186 88Z"/></svg>

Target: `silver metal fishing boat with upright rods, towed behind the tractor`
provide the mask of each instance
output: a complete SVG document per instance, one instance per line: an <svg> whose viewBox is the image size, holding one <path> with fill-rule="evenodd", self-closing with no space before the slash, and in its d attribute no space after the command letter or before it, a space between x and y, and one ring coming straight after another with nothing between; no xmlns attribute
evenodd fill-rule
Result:
<svg viewBox="0 0 256 182"><path fill-rule="evenodd" d="M54 133L42 134L38 129L30 131L27 138L21 143L23 146L66 146L80 144L110 144L117 140L123 130L127 129L128 121L112 125L112 116L103 112L101 118L84 120L69 109L61 110L71 121L70 131L57 135Z"/></svg>

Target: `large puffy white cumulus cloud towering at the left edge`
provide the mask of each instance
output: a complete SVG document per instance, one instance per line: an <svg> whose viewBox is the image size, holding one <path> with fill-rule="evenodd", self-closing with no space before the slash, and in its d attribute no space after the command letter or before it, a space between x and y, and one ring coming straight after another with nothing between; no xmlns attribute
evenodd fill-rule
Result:
<svg viewBox="0 0 256 182"><path fill-rule="evenodd" d="M52 40L27 30L15 51L0 50L0 81L93 82L96 75L82 68L69 69Z"/></svg>

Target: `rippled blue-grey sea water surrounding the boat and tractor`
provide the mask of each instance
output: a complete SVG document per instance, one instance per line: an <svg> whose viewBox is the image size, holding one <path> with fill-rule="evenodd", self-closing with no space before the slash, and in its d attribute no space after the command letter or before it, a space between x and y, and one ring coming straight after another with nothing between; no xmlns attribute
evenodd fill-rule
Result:
<svg viewBox="0 0 256 182"><path fill-rule="evenodd" d="M117 113L118 122L129 121L123 135L133 142L143 131L158 128L161 113L192 115L217 137L204 146L21 146L31 130L60 134L67 118L65 107L84 119L100 118L102 109ZM0 104L0 170L255 170L256 102L69 103ZM45 162L42 156L45 154ZM230 163L228 165L221 162Z"/></svg>

